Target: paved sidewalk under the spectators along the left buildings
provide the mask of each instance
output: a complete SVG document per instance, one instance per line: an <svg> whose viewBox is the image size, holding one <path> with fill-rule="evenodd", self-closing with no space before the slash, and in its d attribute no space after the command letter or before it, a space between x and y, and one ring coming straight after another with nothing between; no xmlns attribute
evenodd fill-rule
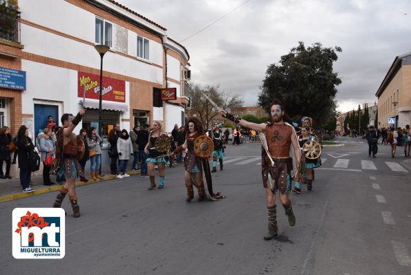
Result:
<svg viewBox="0 0 411 275"><path fill-rule="evenodd" d="M86 166L87 167L87 166ZM140 170L138 171L127 171L127 173L131 176L134 175L140 175ZM102 180L91 180L90 179L90 170L86 169L85 171L85 176L88 179L88 182L76 182L76 186L82 186L86 184L93 184L93 183L98 183L102 182L105 180L113 180L115 179L114 175L111 175L110 167L102 167L102 174L105 175L104 179ZM52 191L58 191L61 189L61 185L64 184L64 182L58 183L56 182L56 176L50 175L51 181L55 182L56 184L53 184L51 186L44 185L43 183L43 176L32 176L31 181L32 181L32 189L34 189L34 192L31 193L23 193L21 191L21 184L20 184L20 179L19 178L12 178L11 180L9 179L0 179L0 202L7 202L9 200L15 200L17 198L26 198L30 196L35 196L39 195L41 193L48 193ZM79 178L77 178L79 180Z"/></svg>

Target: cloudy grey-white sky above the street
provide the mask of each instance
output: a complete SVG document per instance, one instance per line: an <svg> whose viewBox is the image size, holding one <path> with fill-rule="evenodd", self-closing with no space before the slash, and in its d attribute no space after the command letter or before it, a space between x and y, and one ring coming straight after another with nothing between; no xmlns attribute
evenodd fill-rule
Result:
<svg viewBox="0 0 411 275"><path fill-rule="evenodd" d="M193 82L220 84L242 96L245 106L256 105L267 66L298 41L343 49L334 64L343 81L336 95L343 112L376 102L395 57L411 51L410 0L117 2L160 24L187 48Z"/></svg>

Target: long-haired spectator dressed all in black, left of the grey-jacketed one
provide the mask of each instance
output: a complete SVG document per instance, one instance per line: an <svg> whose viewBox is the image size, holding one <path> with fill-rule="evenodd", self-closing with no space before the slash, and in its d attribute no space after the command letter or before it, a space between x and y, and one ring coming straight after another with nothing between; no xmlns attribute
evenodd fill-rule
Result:
<svg viewBox="0 0 411 275"><path fill-rule="evenodd" d="M32 143L31 138L28 137L28 129L24 125L20 126L19 132L17 133L17 146L19 147L17 153L19 157L21 187L23 187L23 192L29 193L34 191L30 188L31 167L29 155L30 151L34 151L35 145Z"/></svg>

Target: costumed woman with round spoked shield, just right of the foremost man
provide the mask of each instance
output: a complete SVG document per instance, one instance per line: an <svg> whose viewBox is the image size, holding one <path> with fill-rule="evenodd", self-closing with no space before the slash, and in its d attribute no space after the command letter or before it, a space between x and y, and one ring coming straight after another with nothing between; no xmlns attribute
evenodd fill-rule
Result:
<svg viewBox="0 0 411 275"><path fill-rule="evenodd" d="M311 140L315 140L314 136L310 135L311 129L309 127L302 127L301 128L301 136L298 138L298 143L300 144L300 148L303 148L305 142L309 142ZM305 158L305 155L302 153L301 158ZM318 163L318 159L310 160L309 158L305 158L305 160L301 161L302 169L304 170L305 177L307 178L307 191L312 191L312 182L314 180L314 168L319 167L320 164ZM304 174L303 173L303 174ZM301 192L301 182L295 182L293 191L295 193Z"/></svg>

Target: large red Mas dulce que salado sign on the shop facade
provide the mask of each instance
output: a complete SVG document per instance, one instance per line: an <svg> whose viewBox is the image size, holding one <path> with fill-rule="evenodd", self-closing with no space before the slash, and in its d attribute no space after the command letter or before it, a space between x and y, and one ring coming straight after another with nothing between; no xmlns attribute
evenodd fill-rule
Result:
<svg viewBox="0 0 411 275"><path fill-rule="evenodd" d="M100 76L90 73L78 73L77 96L99 99ZM102 100L111 102L126 102L126 82L110 77L103 77Z"/></svg>

